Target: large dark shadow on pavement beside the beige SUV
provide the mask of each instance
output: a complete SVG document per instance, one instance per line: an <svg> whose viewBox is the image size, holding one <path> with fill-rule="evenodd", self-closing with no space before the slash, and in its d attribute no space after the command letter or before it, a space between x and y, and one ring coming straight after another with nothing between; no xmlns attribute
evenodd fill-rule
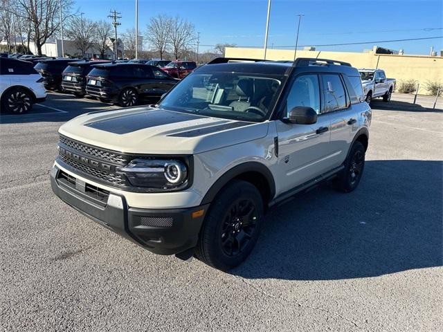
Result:
<svg viewBox="0 0 443 332"><path fill-rule="evenodd" d="M275 208L245 278L330 280L442 266L442 161L370 160L350 194L323 186Z"/></svg>

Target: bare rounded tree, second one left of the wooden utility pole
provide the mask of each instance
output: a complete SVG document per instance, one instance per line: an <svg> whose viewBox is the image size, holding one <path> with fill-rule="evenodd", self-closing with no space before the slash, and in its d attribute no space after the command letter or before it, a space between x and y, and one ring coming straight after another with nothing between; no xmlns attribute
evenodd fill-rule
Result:
<svg viewBox="0 0 443 332"><path fill-rule="evenodd" d="M66 37L71 39L84 57L84 53L93 45L93 36L96 35L96 24L91 19L74 16L69 20Z"/></svg>

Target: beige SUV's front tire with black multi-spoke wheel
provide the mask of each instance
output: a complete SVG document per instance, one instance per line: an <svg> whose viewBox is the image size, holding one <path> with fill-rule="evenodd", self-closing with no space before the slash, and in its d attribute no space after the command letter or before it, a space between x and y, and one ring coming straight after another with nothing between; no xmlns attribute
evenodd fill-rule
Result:
<svg viewBox="0 0 443 332"><path fill-rule="evenodd" d="M229 183L210 205L195 255L222 271L242 264L260 235L263 213L262 196L254 185Z"/></svg>

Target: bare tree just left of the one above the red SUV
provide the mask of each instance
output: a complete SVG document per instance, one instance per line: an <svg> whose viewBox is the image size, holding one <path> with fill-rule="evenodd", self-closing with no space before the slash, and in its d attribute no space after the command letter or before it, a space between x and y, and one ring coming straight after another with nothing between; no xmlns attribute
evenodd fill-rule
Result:
<svg viewBox="0 0 443 332"><path fill-rule="evenodd" d="M171 25L172 17L157 15L156 17L151 17L150 23L146 27L146 40L159 52L160 59L163 59L163 54L168 47Z"/></svg>

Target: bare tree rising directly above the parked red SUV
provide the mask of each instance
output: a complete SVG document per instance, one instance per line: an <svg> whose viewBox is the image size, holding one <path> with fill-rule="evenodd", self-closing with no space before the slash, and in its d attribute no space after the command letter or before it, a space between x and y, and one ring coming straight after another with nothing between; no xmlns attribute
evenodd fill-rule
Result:
<svg viewBox="0 0 443 332"><path fill-rule="evenodd" d="M197 39L194 24L178 16L174 17L171 19L169 39L174 57L179 59L181 53L190 48L192 42Z"/></svg>

